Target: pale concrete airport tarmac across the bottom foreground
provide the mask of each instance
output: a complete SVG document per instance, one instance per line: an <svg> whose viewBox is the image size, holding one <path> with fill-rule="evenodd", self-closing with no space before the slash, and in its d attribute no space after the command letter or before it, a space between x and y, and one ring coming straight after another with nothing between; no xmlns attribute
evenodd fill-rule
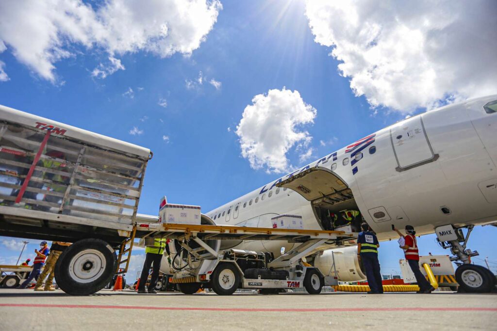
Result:
<svg viewBox="0 0 497 331"><path fill-rule="evenodd" d="M213 293L0 289L0 330L497 330L496 294Z"/></svg>

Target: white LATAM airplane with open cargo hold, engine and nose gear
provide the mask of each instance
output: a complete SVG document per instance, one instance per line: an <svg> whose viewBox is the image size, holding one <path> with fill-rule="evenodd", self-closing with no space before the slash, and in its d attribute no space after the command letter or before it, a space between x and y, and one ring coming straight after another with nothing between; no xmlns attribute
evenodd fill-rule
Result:
<svg viewBox="0 0 497 331"><path fill-rule="evenodd" d="M380 241L397 239L393 225L436 232L461 265L467 290L487 291L490 270L471 265L466 249L475 225L497 224L497 95L472 99L408 118L372 133L247 195L206 213L213 223L271 227L271 217L300 215L305 229L331 230L330 213L358 210ZM356 220L362 222L361 217ZM466 234L462 229L466 228ZM355 240L338 247L355 245ZM293 243L223 241L238 248L280 254ZM337 247L337 246L335 246ZM365 279L355 246L334 251L343 281ZM169 265L163 259L162 271ZM307 257L331 271L331 250Z"/></svg>

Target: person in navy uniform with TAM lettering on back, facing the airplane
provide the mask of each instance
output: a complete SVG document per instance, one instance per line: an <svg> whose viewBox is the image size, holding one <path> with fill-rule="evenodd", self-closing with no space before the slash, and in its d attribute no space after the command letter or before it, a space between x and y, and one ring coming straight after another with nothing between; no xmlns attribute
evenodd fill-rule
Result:
<svg viewBox="0 0 497 331"><path fill-rule="evenodd" d="M361 224L362 232L357 236L357 255L366 269L366 277L370 291L368 294L382 294L380 262L378 261L378 247L380 243L367 223Z"/></svg>

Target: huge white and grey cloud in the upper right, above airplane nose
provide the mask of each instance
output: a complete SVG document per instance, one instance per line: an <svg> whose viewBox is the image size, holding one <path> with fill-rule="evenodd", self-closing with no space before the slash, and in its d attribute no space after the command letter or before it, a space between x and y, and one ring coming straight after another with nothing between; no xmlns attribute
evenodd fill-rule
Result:
<svg viewBox="0 0 497 331"><path fill-rule="evenodd" d="M308 0L357 96L402 113L497 91L496 1Z"/></svg>

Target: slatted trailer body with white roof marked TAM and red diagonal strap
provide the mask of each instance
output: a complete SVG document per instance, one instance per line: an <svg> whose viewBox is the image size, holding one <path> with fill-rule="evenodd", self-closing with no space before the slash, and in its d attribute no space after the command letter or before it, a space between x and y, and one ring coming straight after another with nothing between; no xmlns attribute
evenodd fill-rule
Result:
<svg viewBox="0 0 497 331"><path fill-rule="evenodd" d="M1 206L132 224L150 158L148 148L0 106Z"/></svg>

